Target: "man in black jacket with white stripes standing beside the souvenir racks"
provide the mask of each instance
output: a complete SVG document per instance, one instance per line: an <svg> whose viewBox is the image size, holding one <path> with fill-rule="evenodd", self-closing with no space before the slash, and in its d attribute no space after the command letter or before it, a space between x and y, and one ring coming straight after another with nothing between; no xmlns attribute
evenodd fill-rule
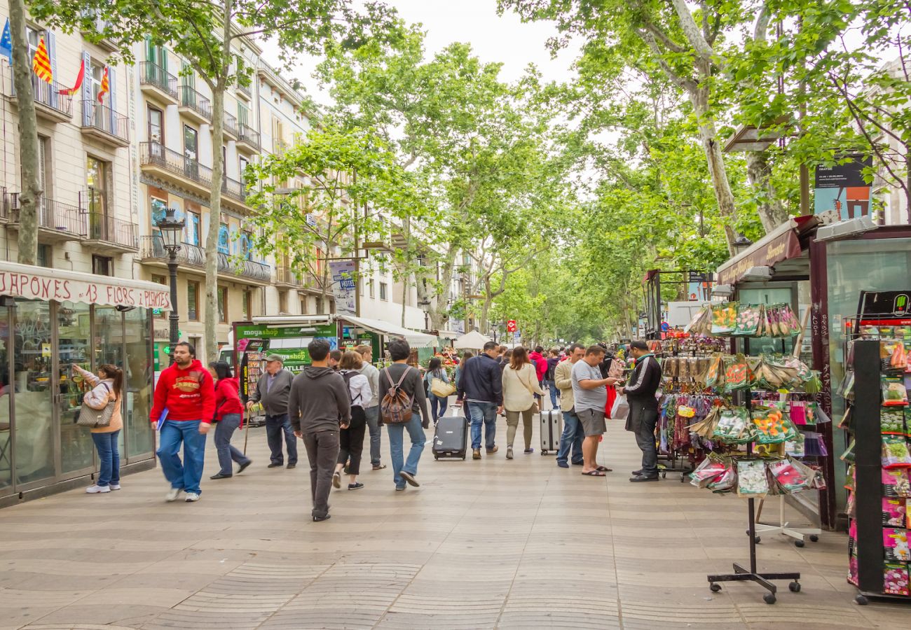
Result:
<svg viewBox="0 0 911 630"><path fill-rule="evenodd" d="M626 430L636 435L636 443L642 452L642 468L633 471L630 482L657 482L655 425L658 423L658 399L655 392L661 384L661 366L645 341L630 343L630 354L636 360L636 367L630 375L629 384L620 388L619 393L625 394L630 403Z"/></svg>

